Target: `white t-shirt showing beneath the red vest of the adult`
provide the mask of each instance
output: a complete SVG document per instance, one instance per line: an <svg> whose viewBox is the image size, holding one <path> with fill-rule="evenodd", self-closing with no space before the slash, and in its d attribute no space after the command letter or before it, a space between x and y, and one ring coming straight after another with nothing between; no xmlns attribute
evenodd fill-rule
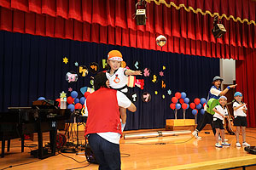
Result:
<svg viewBox="0 0 256 170"><path fill-rule="evenodd" d="M123 108L128 108L131 105L131 100L128 99L125 94L122 92L117 91L116 97L118 100L118 105ZM84 102L84 105L86 106L86 100ZM87 107L85 107L85 116L88 116L88 110ZM103 139L108 140L108 142L111 142L113 144L119 144L119 140L121 135L119 133L113 133L113 132L108 132L108 133L97 133L100 135Z"/></svg>

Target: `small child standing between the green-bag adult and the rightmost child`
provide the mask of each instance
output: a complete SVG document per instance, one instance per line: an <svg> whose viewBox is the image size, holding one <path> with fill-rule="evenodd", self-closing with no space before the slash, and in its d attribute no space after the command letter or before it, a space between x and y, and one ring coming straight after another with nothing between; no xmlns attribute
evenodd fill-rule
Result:
<svg viewBox="0 0 256 170"><path fill-rule="evenodd" d="M216 129L215 133L215 139L216 139L216 144L215 147L222 148L223 145L230 146L229 143L225 142L224 140L224 118L227 117L228 111L226 108L227 104L227 98L225 96L221 96L219 98L219 104L215 108L212 109L212 111L215 112L213 115L213 127ZM221 144L218 143L218 135L220 133L221 136Z"/></svg>

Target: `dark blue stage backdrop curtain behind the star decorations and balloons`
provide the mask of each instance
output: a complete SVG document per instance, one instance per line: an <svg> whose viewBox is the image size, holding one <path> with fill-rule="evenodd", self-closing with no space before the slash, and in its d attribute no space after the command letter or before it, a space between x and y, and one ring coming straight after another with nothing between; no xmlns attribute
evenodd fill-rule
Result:
<svg viewBox="0 0 256 170"><path fill-rule="evenodd" d="M186 92L190 101L207 98L212 77L219 75L219 59L0 31L0 111L6 111L8 106L30 106L40 96L57 99L61 91L70 95L69 87L79 92L79 88L90 86L90 76L94 75L79 77L78 82L69 84L65 79L67 71L77 70L75 61L87 67L90 62L100 63L112 49L121 51L131 69L136 60L158 75L162 66L166 66L162 77L166 89L160 88L160 81L153 84L148 77L137 77L144 78L145 87L131 89L139 99L135 103L137 111L127 113L126 129L165 127L166 118L174 117L169 105L177 91ZM62 62L64 57L68 58L67 65ZM171 96L167 94L169 88ZM159 94L155 95L155 90ZM149 103L141 99L146 91L152 95ZM162 94L166 99L162 99ZM178 111L177 117L182 116L182 111ZM191 110L186 117L194 117Z"/></svg>

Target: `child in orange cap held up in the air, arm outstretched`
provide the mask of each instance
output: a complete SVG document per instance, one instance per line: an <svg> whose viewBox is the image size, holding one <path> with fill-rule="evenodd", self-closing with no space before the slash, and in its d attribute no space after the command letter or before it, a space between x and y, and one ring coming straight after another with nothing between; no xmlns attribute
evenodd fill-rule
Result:
<svg viewBox="0 0 256 170"><path fill-rule="evenodd" d="M131 100L131 94L129 94L127 87L128 77L130 75L142 75L142 71L131 71L130 69L122 68L122 61L123 56L119 50L112 50L108 53L108 65L110 66L110 69L106 72L108 78L106 83L108 87L119 90ZM126 109L120 107L119 112L122 120L122 130L124 130L126 123Z"/></svg>

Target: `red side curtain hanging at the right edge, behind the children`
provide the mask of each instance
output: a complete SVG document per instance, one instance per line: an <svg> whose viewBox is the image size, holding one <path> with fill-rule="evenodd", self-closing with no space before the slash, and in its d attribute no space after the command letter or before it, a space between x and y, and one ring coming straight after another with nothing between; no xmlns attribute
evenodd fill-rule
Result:
<svg viewBox="0 0 256 170"><path fill-rule="evenodd" d="M248 127L256 127L256 50L247 49L247 57L243 61L236 61L237 91L243 94L247 103Z"/></svg>

